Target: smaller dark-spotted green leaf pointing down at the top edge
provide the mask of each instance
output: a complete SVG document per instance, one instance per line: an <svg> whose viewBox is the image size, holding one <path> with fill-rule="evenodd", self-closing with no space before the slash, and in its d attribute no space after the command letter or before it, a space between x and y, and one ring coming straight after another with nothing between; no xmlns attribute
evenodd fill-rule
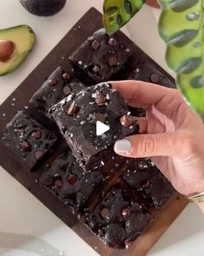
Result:
<svg viewBox="0 0 204 256"><path fill-rule="evenodd" d="M105 0L103 23L108 34L113 34L143 7L145 0Z"/></svg>

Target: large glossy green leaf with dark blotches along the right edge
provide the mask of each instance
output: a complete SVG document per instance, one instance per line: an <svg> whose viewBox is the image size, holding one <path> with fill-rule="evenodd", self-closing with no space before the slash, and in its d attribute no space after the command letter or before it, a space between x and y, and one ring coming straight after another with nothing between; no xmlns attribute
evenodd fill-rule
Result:
<svg viewBox="0 0 204 256"><path fill-rule="evenodd" d="M159 0L166 62L182 94L204 118L204 0Z"/></svg>

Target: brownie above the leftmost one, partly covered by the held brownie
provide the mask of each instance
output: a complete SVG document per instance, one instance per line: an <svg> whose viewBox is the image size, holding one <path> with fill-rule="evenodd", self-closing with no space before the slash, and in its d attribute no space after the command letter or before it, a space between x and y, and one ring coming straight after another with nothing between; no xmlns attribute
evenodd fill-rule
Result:
<svg viewBox="0 0 204 256"><path fill-rule="evenodd" d="M30 99L30 103L43 115L48 115L48 109L60 102L71 93L84 89L85 85L72 77L70 72L58 67L41 85Z"/></svg>

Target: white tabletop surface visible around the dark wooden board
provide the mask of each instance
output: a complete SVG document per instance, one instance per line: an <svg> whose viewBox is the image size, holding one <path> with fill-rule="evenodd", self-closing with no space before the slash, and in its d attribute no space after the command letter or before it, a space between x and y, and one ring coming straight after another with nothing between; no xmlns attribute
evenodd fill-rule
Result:
<svg viewBox="0 0 204 256"><path fill-rule="evenodd" d="M91 6L102 10L101 0L69 0L56 16L40 18L23 10L17 0L0 1L0 29L29 24L37 43L26 62L11 75L0 78L0 103L47 56L80 16ZM145 7L128 25L127 35L166 69L163 43L156 31L158 12ZM1 117L0 117L1 118ZM19 170L21 171L21 170ZM175 220L149 256L203 256L204 218L191 205ZM0 255L58 256L98 255L47 207L0 167Z"/></svg>

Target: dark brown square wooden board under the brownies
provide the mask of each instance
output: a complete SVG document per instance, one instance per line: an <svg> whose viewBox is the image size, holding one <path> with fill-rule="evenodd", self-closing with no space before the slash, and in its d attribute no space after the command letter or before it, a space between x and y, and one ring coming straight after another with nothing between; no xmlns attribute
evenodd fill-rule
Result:
<svg viewBox="0 0 204 256"><path fill-rule="evenodd" d="M46 58L33 70L33 72L22 82L22 84L3 102L0 107L0 136L3 135L3 129L6 123L8 123L16 112L24 109L25 106L29 106L29 99L35 93L36 89L39 89L42 82L56 69L59 65L64 69L71 69L68 57L73 50L77 49L81 43L83 43L88 36L91 36L95 30L102 27L101 14L94 8L88 10L78 23L73 26L67 35L61 40L60 43L46 56ZM94 22L92 20L94 19ZM131 48L134 51L134 55L131 59L129 69L134 69L136 63L140 61L152 63L156 69L158 69L163 75L169 77L169 80L174 82L173 78L166 73L161 67L159 67L149 56L147 56L141 49L139 49L134 43L131 42L125 36L124 41L131 44ZM15 106L12 106L12 99L15 98ZM29 109L27 109L29 111ZM31 111L31 110L30 110ZM44 121L45 125L48 125ZM24 187L34 194L41 202L47 206L53 213L55 213L61 220L63 220L67 226L73 228L82 239L86 240L93 249L97 250L100 255L145 255L150 248L156 243L156 240L165 232L168 226L175 220L182 209L187 205L187 201L181 196L178 199L173 199L169 206L163 211L156 211L156 220L150 227L149 231L137 240L131 246L130 250L119 252L111 248L105 247L101 241L98 240L92 233L90 233L86 226L81 224L77 217L72 213L69 207L66 207L60 200L55 198L53 194L50 194L44 187L39 185L39 177L45 170L45 164L48 161L52 161L54 155L61 148L61 143L58 143L58 147L54 148L53 155L48 155L47 159L38 167L38 170L34 173L29 173L21 163L12 159L9 152L5 150L2 143L0 144L0 165L10 173L17 181L21 182ZM137 254L136 254L137 252Z"/></svg>

